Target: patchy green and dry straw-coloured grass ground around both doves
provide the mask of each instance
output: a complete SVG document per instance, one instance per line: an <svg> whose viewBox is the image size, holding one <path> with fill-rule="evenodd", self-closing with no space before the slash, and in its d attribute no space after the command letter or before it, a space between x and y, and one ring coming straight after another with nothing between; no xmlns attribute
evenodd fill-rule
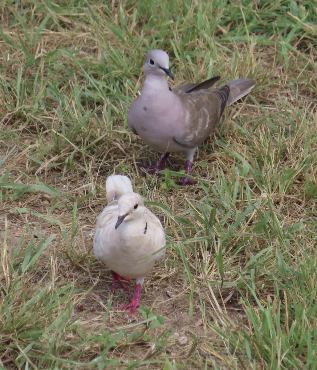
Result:
<svg viewBox="0 0 317 370"><path fill-rule="evenodd" d="M317 10L310 0L4 1L0 367L317 369ZM127 129L143 58L175 85L250 77L181 188ZM167 236L133 320L92 236L110 173Z"/></svg>

